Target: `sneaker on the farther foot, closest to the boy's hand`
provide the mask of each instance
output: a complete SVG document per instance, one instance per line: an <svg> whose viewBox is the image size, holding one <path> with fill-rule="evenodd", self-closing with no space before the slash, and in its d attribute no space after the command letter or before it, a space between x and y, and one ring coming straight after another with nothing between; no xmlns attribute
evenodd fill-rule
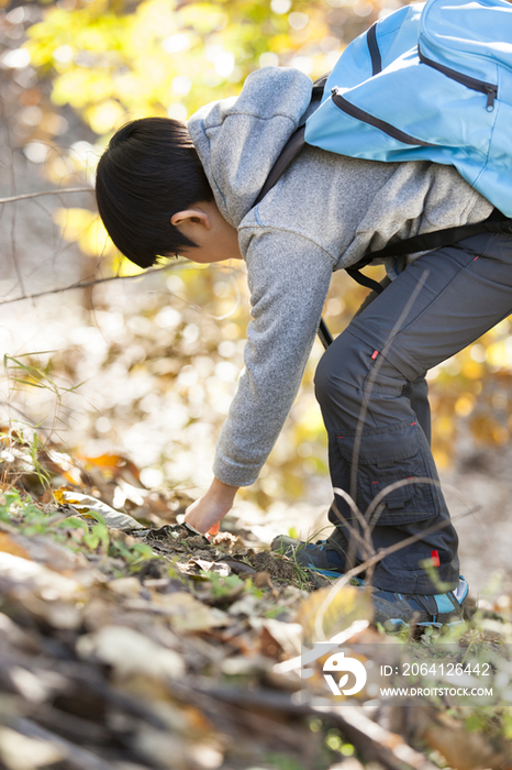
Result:
<svg viewBox="0 0 512 770"><path fill-rule="evenodd" d="M272 551L282 553L290 559L294 559L301 566L320 572L325 578L340 578L345 572L345 539L340 537L335 529L326 540L316 542L304 542L286 535L278 535L270 546ZM357 585L365 582L357 578L353 579Z"/></svg>

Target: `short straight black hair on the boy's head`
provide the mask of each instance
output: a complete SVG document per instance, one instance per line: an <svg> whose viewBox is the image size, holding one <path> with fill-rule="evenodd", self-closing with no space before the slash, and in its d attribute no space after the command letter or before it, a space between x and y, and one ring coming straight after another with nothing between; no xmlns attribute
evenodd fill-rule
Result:
<svg viewBox="0 0 512 770"><path fill-rule="evenodd" d="M151 267L158 256L196 245L170 218L213 194L185 123L143 118L110 140L98 164L96 199L120 252Z"/></svg>

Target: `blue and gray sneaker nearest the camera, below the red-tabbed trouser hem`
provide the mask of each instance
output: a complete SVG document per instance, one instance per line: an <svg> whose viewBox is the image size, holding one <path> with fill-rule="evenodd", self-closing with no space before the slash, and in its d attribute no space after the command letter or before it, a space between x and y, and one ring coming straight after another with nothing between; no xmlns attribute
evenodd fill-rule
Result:
<svg viewBox="0 0 512 770"><path fill-rule="evenodd" d="M380 623L389 634L399 634L411 625L421 627L464 625L464 602L469 585L459 578L457 588L446 594L399 594L374 588L371 601L375 623Z"/></svg>

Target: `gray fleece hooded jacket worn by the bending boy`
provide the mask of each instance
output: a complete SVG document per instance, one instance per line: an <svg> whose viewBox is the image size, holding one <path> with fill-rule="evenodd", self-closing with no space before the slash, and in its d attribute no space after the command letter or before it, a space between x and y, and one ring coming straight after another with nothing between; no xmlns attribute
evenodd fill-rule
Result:
<svg viewBox="0 0 512 770"><path fill-rule="evenodd" d="M492 205L452 166L377 163L307 146L255 208L312 82L297 69L253 73L240 97L200 109L188 128L215 202L238 230L252 321L245 369L213 472L233 486L258 476L299 389L333 271L404 239L486 219ZM310 108L311 109L311 108Z"/></svg>

